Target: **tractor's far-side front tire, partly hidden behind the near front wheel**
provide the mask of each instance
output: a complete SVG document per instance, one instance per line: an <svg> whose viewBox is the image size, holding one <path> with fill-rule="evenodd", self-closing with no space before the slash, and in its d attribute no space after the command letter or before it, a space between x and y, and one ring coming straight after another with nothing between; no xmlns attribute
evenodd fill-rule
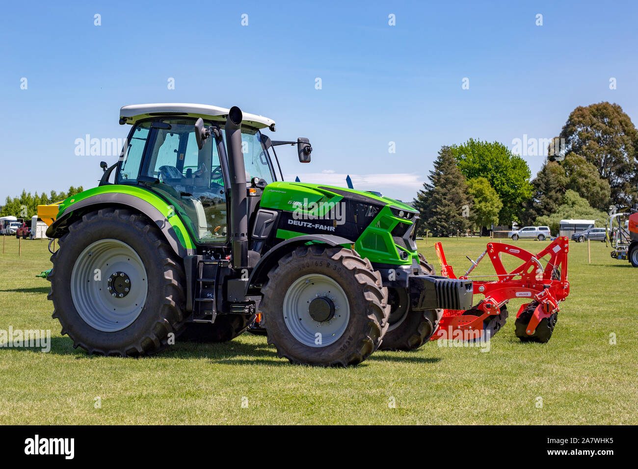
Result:
<svg viewBox="0 0 638 469"><path fill-rule="evenodd" d="M436 275L434 267L427 263L426 258L419 254L419 264L423 274ZM389 329L385 333L381 350L415 350L429 341L438 329L443 309L426 309L424 311L410 311L410 298L406 290L395 288L390 292L390 320ZM398 310L398 311L397 311ZM401 315L400 311L405 311ZM392 315L399 314L398 325L392 327Z"/></svg>

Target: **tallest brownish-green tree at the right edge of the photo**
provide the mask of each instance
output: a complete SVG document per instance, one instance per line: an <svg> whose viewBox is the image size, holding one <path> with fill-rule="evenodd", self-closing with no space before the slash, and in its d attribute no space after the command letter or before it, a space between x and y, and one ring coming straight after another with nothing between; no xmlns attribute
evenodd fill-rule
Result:
<svg viewBox="0 0 638 469"><path fill-rule="evenodd" d="M603 101L575 108L560 138L567 153L582 156L607 179L614 204L638 200L638 131L618 104Z"/></svg>

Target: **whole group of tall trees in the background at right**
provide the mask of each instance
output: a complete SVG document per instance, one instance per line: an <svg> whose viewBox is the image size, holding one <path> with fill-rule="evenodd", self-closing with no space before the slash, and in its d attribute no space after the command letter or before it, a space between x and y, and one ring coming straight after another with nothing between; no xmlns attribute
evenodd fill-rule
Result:
<svg viewBox="0 0 638 469"><path fill-rule="evenodd" d="M564 142L560 153L557 141ZM577 107L533 179L526 161L505 145L472 138L441 147L428 179L413 200L419 234L485 232L513 222L548 225L555 233L568 218L604 225L611 205L638 202L638 131L616 103Z"/></svg>

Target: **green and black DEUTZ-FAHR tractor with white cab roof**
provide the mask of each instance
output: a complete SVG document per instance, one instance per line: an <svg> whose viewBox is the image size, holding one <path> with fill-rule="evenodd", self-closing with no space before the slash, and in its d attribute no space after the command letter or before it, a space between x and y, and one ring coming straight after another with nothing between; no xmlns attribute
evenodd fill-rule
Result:
<svg viewBox="0 0 638 469"><path fill-rule="evenodd" d="M417 253L418 212L377 193L284 182L271 119L209 105L121 108L131 131L98 187L64 200L47 236L54 318L75 347L138 356L253 325L293 363L347 366L411 350L468 280ZM278 177L279 176L279 177ZM112 181L111 181L112 180Z"/></svg>

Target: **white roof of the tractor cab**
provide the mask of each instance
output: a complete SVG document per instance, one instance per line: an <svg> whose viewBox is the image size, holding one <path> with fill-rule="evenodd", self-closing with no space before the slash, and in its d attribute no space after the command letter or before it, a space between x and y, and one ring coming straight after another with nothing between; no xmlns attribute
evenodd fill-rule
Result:
<svg viewBox="0 0 638 469"><path fill-rule="evenodd" d="M133 124L140 119L146 119L154 115L167 115L164 113L181 113L191 117L202 117L202 119L211 119L213 121L225 121L228 115L228 109L207 104L189 103L133 104L120 109L120 118L124 119L127 124ZM243 114L244 119L242 120L242 124L247 126L263 129L275 123L275 121L268 117L263 117L263 115L248 114L248 112L244 112Z"/></svg>

